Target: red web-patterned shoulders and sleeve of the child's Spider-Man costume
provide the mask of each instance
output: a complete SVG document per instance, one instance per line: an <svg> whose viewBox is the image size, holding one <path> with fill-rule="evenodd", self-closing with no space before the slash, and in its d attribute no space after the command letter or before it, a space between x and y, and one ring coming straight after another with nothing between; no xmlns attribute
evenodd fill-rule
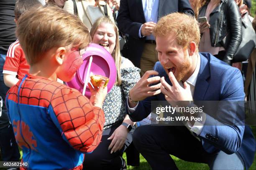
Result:
<svg viewBox="0 0 256 170"><path fill-rule="evenodd" d="M8 99L18 103L18 86L8 91ZM104 112L76 89L56 81L28 76L20 88L20 104L51 106L69 144L76 150L91 152L99 145L105 122Z"/></svg>

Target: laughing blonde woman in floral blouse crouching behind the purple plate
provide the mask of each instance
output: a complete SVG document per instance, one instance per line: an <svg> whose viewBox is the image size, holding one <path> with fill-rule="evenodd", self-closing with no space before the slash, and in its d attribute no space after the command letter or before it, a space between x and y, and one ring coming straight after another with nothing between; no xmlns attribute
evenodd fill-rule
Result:
<svg viewBox="0 0 256 170"><path fill-rule="evenodd" d="M85 155L84 169L126 169L122 155L128 147L133 146L131 142L135 128L126 113L125 104L130 89L140 79L140 69L127 58L120 56L118 28L108 17L97 19L92 25L90 34L92 43L100 44L113 56L117 79L103 104L106 122L102 141L92 153Z"/></svg>

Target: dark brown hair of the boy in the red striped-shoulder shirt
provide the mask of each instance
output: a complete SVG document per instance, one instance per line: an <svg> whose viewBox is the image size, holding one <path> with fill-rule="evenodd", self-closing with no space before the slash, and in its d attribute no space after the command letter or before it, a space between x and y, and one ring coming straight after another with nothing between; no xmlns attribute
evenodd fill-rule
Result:
<svg viewBox="0 0 256 170"><path fill-rule="evenodd" d="M15 19L18 20L20 15L30 10L32 7L39 7L41 5L38 0L17 0L14 8Z"/></svg>

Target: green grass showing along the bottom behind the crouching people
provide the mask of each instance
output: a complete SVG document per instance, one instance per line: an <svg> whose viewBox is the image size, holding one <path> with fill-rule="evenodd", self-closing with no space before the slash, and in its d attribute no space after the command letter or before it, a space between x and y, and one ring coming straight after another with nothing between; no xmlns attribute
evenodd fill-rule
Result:
<svg viewBox="0 0 256 170"><path fill-rule="evenodd" d="M252 127L252 129L253 129L253 134L256 137L256 126ZM126 160L125 154L123 155L123 158ZM187 162L174 156L172 156L172 158L175 161L179 170L209 170L209 167L207 164ZM140 155L140 166L139 167L128 166L127 169L128 170L150 170L151 167L148 165L148 162L145 160L145 158L142 155ZM249 170L256 170L256 155L254 157L253 164L251 165Z"/></svg>

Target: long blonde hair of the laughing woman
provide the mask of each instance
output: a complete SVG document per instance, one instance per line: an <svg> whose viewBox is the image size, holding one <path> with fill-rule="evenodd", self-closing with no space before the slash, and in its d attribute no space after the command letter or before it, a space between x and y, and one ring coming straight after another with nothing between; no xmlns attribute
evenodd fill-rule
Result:
<svg viewBox="0 0 256 170"><path fill-rule="evenodd" d="M121 81L121 73L120 73L120 68L121 68L121 54L120 54L120 45L119 45L119 33L118 33L118 28L115 25L115 23L108 17L101 17L98 18L95 23L92 25L91 31L90 31L90 35L93 39L93 36L95 35L98 27L100 26L101 23L108 23L113 25L114 30L115 30L115 48L114 51L112 52L112 57L115 60L115 66L116 66L116 70L117 70L117 78L116 78L116 82L115 85L120 86L122 81Z"/></svg>

